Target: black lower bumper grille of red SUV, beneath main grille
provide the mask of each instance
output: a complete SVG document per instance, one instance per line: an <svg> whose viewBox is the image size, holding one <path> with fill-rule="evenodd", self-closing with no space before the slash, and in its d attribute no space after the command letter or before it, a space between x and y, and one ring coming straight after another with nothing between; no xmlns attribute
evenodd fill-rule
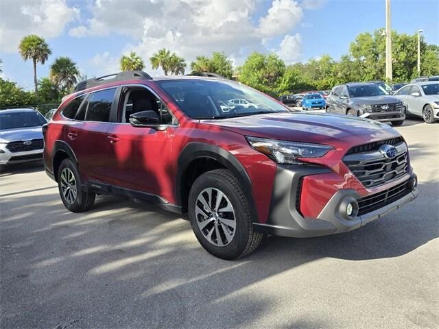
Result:
<svg viewBox="0 0 439 329"><path fill-rule="evenodd" d="M382 208L383 206L387 206L388 204L395 202L397 199L401 199L401 197L407 195L410 191L412 191L410 189L410 180L407 180L407 182L393 186L383 192L375 193L368 197L360 197L357 199L358 215L361 216L373 210Z"/></svg>

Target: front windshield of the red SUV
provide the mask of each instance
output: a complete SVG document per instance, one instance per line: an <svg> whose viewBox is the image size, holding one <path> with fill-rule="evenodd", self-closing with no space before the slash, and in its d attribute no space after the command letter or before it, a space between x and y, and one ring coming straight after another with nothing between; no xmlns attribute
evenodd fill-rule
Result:
<svg viewBox="0 0 439 329"><path fill-rule="evenodd" d="M228 80L161 80L156 83L193 119L289 112L274 99Z"/></svg>

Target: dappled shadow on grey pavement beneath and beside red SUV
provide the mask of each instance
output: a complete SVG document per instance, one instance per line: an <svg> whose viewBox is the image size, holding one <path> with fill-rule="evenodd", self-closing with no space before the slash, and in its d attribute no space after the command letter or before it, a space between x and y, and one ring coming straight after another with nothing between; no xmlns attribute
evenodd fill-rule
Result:
<svg viewBox="0 0 439 329"><path fill-rule="evenodd" d="M105 196L97 197L92 210L74 214L55 189L1 197L8 204L1 216L2 323L4 328L55 328L71 321L80 328L250 326L276 302L246 287L321 258L402 256L438 237L438 182L420 183L419 190L412 204L353 232L270 236L235 261L205 252L188 221L155 206ZM12 234L20 227L19 236ZM302 323L336 327L316 315L296 322Z"/></svg>

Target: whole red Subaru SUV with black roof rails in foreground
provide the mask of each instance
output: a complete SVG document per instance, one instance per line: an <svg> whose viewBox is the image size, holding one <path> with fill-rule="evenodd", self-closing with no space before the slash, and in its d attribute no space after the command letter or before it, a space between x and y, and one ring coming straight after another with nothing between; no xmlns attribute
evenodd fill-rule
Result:
<svg viewBox="0 0 439 329"><path fill-rule="evenodd" d="M87 80L44 133L45 169L67 209L88 210L100 194L154 202L188 213L204 249L225 259L252 252L263 234L354 230L418 194L389 125L290 112L225 79Z"/></svg>

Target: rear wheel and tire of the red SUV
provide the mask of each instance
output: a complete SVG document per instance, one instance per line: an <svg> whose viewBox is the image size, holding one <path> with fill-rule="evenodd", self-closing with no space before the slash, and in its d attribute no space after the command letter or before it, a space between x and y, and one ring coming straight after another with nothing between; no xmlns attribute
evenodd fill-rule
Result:
<svg viewBox="0 0 439 329"><path fill-rule="evenodd" d="M86 192L80 174L70 159L62 160L58 169L58 191L64 206L71 212L83 212L93 207L96 193Z"/></svg>

